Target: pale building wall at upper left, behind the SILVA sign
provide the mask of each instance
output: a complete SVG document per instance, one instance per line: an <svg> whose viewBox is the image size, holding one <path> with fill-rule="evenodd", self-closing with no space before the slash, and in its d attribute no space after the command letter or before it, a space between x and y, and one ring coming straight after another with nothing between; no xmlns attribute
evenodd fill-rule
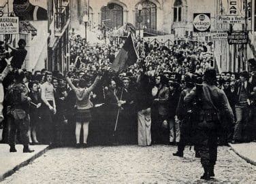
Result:
<svg viewBox="0 0 256 184"><path fill-rule="evenodd" d="M25 1L24 1L25 2ZM27 16L27 14L20 14L16 9L17 1L0 1L0 11L3 12L3 16L18 16L19 18L19 33L13 35L0 35L1 41L7 41L14 48L18 47L18 40L25 39L27 45L27 56L22 65L22 69L27 71L41 70L46 67L47 62L47 10L46 1L38 1L37 3L27 1L31 7L30 11L33 13L33 17ZM37 10L44 12L44 17L36 15ZM35 49L36 48L36 49Z"/></svg>

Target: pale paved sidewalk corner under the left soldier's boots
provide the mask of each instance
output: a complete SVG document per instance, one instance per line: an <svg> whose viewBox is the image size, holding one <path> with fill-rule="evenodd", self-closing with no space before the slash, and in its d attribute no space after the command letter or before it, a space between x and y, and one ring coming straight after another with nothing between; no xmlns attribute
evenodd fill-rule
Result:
<svg viewBox="0 0 256 184"><path fill-rule="evenodd" d="M16 145L17 152L10 153L9 145L0 144L0 181L38 158L48 149L48 145L31 145L30 148L34 149L35 152L23 153L23 145Z"/></svg>

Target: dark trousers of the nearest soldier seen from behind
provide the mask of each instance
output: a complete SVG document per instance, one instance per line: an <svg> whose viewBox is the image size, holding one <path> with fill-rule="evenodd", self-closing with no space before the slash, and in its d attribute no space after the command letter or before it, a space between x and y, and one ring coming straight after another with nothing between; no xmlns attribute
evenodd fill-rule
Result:
<svg viewBox="0 0 256 184"><path fill-rule="evenodd" d="M199 138L197 146L202 166L214 166L217 161L217 130L199 128L197 134Z"/></svg>

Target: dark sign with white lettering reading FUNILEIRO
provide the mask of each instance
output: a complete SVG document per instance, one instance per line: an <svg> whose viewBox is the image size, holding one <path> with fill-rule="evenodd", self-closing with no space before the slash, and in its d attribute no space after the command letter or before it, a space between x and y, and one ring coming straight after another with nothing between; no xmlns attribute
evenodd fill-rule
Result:
<svg viewBox="0 0 256 184"><path fill-rule="evenodd" d="M247 44L248 43L248 33L241 32L229 32L227 35L227 42L229 45L233 44Z"/></svg>

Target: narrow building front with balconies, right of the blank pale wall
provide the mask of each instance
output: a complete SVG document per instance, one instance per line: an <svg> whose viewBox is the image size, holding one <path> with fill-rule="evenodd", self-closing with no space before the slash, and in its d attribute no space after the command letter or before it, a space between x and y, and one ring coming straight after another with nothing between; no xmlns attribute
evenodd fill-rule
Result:
<svg viewBox="0 0 256 184"><path fill-rule="evenodd" d="M68 0L48 1L48 71L66 71L69 66Z"/></svg>

